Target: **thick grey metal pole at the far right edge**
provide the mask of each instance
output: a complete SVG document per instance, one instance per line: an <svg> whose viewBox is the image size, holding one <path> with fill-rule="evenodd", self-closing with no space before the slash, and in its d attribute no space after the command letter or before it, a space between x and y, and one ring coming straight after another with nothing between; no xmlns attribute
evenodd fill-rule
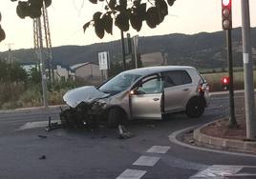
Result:
<svg viewBox="0 0 256 179"><path fill-rule="evenodd" d="M241 0L243 61L245 73L245 119L246 138L256 139L256 119L254 109L253 63L250 42L249 2Z"/></svg>

